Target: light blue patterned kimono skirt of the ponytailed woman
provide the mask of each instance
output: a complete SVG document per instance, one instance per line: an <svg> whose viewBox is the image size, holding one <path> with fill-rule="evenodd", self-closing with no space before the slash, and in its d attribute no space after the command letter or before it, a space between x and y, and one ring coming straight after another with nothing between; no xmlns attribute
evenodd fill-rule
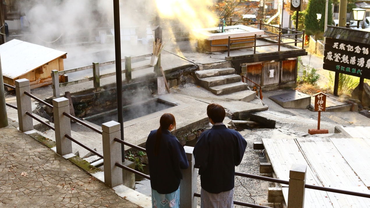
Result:
<svg viewBox="0 0 370 208"><path fill-rule="evenodd" d="M180 187L170 194L159 194L152 189L152 208L179 208L180 207Z"/></svg>

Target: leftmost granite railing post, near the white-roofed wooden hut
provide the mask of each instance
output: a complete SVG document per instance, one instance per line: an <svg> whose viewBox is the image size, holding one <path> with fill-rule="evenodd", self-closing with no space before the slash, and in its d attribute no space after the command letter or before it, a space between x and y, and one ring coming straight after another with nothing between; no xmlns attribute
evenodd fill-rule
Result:
<svg viewBox="0 0 370 208"><path fill-rule="evenodd" d="M32 113L31 98L24 94L24 91L30 93L30 81L28 79L18 79L16 83L16 97L18 108L19 130L27 132L33 130L33 120L26 112Z"/></svg>

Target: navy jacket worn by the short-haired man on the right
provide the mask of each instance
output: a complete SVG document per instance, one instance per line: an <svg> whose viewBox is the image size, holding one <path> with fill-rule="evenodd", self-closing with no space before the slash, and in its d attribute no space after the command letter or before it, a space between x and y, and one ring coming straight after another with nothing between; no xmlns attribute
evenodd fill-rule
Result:
<svg viewBox="0 0 370 208"><path fill-rule="evenodd" d="M204 131L193 151L201 187L215 194L232 190L235 166L242 161L246 146L242 135L225 125L213 125Z"/></svg>

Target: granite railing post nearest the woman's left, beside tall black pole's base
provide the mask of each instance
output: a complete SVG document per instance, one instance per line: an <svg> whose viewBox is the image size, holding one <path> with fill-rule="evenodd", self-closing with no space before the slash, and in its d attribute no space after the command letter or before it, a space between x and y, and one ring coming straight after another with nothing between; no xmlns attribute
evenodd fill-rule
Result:
<svg viewBox="0 0 370 208"><path fill-rule="evenodd" d="M104 183L112 188L122 184L122 170L114 165L122 163L121 144L114 141L115 137L121 137L121 125L110 121L103 123L101 129L103 131Z"/></svg>

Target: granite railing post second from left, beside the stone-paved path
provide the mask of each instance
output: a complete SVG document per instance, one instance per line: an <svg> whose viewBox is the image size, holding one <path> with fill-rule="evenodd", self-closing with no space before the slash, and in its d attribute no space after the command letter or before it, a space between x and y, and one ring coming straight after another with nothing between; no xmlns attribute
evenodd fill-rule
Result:
<svg viewBox="0 0 370 208"><path fill-rule="evenodd" d="M71 136L71 120L63 115L63 112L70 113L69 100L67 98L53 99L55 144L57 153L61 156L72 153L72 141L64 135Z"/></svg>

